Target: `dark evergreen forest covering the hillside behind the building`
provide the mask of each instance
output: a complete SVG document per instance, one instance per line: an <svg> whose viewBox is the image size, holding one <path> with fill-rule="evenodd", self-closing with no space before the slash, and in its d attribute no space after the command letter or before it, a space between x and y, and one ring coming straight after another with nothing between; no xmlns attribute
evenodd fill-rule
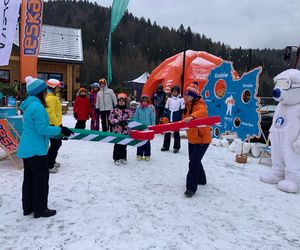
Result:
<svg viewBox="0 0 300 250"><path fill-rule="evenodd" d="M44 24L80 28L82 30L84 63L80 81L92 83L107 75L107 43L110 8L87 0L59 0L44 3ZM283 60L283 50L231 48L214 42L205 34L194 33L190 27L160 27L150 19L134 17L126 12L112 36L113 86L131 80L145 71L151 72L163 60L187 49L206 51L233 62L241 75L247 69L263 67L260 96L271 96L272 78L290 68Z"/></svg>

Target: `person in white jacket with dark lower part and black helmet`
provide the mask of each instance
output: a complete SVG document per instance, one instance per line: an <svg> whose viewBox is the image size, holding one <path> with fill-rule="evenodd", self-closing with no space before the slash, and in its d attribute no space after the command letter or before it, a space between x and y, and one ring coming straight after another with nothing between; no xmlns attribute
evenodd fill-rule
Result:
<svg viewBox="0 0 300 250"><path fill-rule="evenodd" d="M171 96L168 98L164 115L168 118L169 122L178 122L182 119L182 111L184 110L184 99L179 95L180 87L173 86L171 88ZM169 151L171 141L171 133L165 133L164 144L161 151ZM174 146L173 153L178 153L180 149L180 133L174 132Z"/></svg>

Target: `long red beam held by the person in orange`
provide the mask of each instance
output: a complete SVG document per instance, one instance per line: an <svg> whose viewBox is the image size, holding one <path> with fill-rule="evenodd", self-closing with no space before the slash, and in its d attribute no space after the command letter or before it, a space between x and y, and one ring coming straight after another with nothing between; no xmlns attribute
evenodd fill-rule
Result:
<svg viewBox="0 0 300 250"><path fill-rule="evenodd" d="M149 126L147 130L132 130L130 136L135 140L153 140L155 134L163 134L168 132L186 130L195 127L207 127L220 123L219 116L212 116L207 118L197 118L191 120L189 123L184 121L172 122L168 124L159 124Z"/></svg>

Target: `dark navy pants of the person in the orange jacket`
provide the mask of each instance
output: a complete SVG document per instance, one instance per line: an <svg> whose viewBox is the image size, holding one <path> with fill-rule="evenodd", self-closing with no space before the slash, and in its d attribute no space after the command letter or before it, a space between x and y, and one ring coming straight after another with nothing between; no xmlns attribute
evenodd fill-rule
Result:
<svg viewBox="0 0 300 250"><path fill-rule="evenodd" d="M209 144L191 144L189 150L189 171L186 177L186 189L193 192L197 191L197 185L205 181L206 175L202 165L202 158L208 149Z"/></svg>

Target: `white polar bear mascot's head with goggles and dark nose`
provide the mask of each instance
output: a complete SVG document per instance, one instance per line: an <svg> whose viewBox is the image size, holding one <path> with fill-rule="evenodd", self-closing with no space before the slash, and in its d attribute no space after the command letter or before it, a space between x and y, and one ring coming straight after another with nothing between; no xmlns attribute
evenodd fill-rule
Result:
<svg viewBox="0 0 300 250"><path fill-rule="evenodd" d="M300 102L300 71L288 69L274 77L273 98L284 105Z"/></svg>

